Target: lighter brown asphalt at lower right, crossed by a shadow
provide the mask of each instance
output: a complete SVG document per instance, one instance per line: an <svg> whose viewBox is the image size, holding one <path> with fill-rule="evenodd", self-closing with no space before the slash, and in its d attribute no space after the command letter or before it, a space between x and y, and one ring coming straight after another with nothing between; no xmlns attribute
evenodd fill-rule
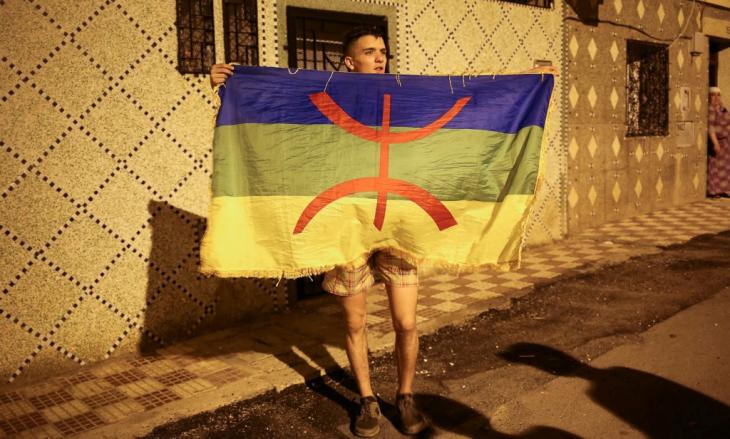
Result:
<svg viewBox="0 0 730 439"><path fill-rule="evenodd" d="M538 426L585 438L727 437L728 317L730 288L725 288L636 342L497 408L489 414L491 428L510 437ZM533 367L554 368L560 355L527 346L516 356Z"/></svg>

